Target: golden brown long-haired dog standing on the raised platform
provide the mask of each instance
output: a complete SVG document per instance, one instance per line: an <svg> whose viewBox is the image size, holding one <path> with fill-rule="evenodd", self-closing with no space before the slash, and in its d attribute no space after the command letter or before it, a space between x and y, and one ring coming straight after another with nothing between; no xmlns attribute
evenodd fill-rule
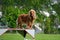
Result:
<svg viewBox="0 0 60 40"><path fill-rule="evenodd" d="M17 27L22 28L23 24L27 25L27 29L32 28L34 20L36 19L35 10L31 9L28 14L21 14L17 19Z"/></svg>

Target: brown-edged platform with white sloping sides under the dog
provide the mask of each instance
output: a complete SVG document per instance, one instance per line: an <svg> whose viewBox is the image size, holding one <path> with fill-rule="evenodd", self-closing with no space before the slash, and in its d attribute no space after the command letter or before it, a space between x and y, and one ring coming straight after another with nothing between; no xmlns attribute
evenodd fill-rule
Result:
<svg viewBox="0 0 60 40"><path fill-rule="evenodd" d="M23 31L23 30L25 30L29 35L31 35L33 38L34 38L34 36L35 36L35 30L34 29L20 29L20 28L5 28L6 29L6 31L8 31L8 30L21 30L21 31ZM3 29L1 29L1 30L3 30ZM2 33L2 31L0 30L0 34ZM3 33L5 33L6 32L5 30L4 30L4 32ZM2 34L3 34L2 33ZM1 34L1 35L2 35Z"/></svg>

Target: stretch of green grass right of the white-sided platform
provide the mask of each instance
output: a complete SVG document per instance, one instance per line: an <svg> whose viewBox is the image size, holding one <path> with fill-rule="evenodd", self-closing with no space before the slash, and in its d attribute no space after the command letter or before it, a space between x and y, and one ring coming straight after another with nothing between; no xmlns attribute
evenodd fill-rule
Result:
<svg viewBox="0 0 60 40"><path fill-rule="evenodd" d="M37 34L36 40L60 40L60 34Z"/></svg>

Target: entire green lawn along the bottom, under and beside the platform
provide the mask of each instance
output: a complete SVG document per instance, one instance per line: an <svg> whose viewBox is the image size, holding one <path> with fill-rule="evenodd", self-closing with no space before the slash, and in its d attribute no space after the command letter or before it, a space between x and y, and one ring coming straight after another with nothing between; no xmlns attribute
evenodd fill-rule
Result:
<svg viewBox="0 0 60 40"><path fill-rule="evenodd" d="M28 34L26 38L32 40ZM0 36L0 40L23 40L23 37L18 33L5 33ZM60 40L60 34L36 34L35 40Z"/></svg>

